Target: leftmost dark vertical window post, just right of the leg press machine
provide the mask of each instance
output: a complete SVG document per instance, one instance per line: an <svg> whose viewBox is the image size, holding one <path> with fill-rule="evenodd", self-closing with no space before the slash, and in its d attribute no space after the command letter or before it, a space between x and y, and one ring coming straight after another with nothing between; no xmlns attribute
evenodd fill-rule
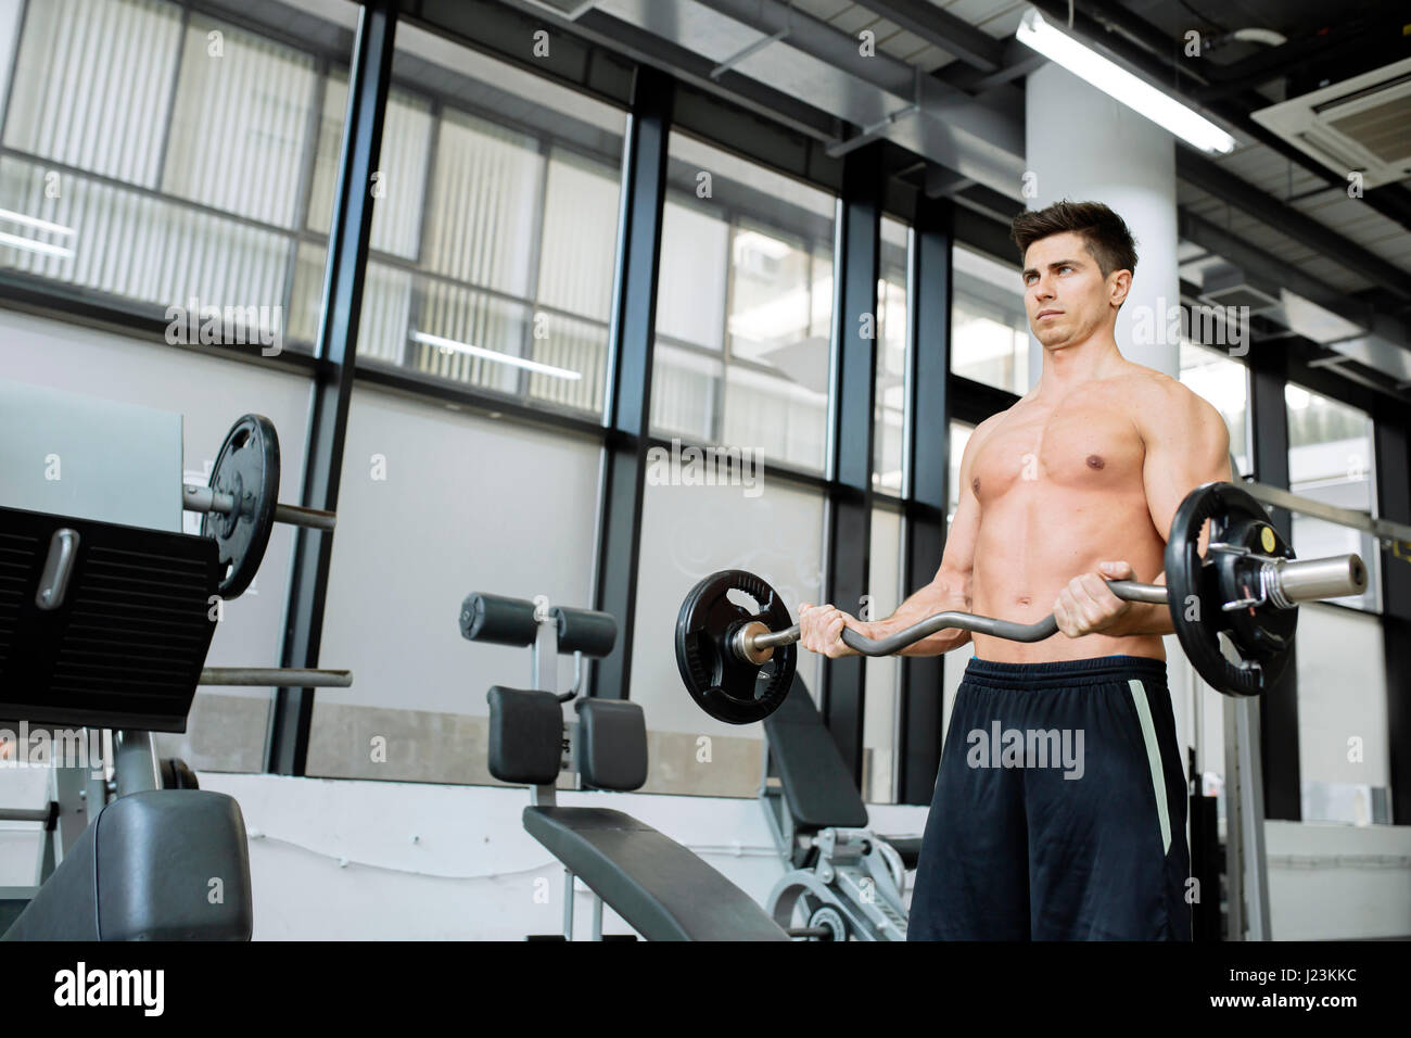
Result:
<svg viewBox="0 0 1411 1038"><path fill-rule="evenodd" d="M349 109L343 153L333 195L329 229L329 263L323 301L313 394L309 410L308 455L301 503L337 510L343 475L343 443L363 314L363 281L373 230L370 184L382 151L382 123L396 47L395 0L370 0L363 7L349 78ZM333 561L333 534L299 530L293 542L289 604L285 612L282 667L317 667L323 637L323 603ZM313 689L275 689L265 744L265 771L303 775L313 722Z"/></svg>

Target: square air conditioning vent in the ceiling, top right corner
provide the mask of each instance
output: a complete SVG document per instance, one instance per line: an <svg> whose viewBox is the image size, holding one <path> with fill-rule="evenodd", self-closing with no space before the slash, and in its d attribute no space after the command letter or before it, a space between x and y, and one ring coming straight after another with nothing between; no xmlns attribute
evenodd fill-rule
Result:
<svg viewBox="0 0 1411 1038"><path fill-rule="evenodd" d="M1253 113L1333 172L1374 188L1411 177L1411 58Z"/></svg>

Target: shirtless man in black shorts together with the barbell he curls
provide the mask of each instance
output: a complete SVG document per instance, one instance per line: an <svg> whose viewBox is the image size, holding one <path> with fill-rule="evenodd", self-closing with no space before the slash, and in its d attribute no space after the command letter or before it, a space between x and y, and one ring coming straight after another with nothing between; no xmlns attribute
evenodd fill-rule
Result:
<svg viewBox="0 0 1411 1038"><path fill-rule="evenodd" d="M1292 604L1352 593L1366 573L1356 556L1288 562L1263 510L1226 483L1219 412L1122 357L1113 328L1136 251L1116 213L1058 203L1012 233L1043 374L971 435L931 583L885 620L803 604L783 630L768 585L715 575L682 607L677 661L707 710L744 723L787 693L794 641L828 657L972 641L907 936L1187 941L1187 792L1161 636L1175 631L1221 691L1253 695L1287 664ZM732 621L744 610L725 585L759 612Z"/></svg>

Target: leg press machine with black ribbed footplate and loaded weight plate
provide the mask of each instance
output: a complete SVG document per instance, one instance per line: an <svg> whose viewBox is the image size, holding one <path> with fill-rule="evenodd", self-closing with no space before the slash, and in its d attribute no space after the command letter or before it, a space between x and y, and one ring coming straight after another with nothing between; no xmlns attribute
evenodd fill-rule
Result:
<svg viewBox="0 0 1411 1038"><path fill-rule="evenodd" d="M35 462L45 462L37 465ZM347 686L347 671L209 668L224 599L246 590L270 524L329 530L277 504L278 439L236 422L209 487L179 486L181 418L0 383L0 734L47 768L34 883L0 888L6 941L250 939L244 819L199 789L154 733L185 732L198 685ZM38 473L44 473L42 479ZM38 747L38 753L35 751Z"/></svg>

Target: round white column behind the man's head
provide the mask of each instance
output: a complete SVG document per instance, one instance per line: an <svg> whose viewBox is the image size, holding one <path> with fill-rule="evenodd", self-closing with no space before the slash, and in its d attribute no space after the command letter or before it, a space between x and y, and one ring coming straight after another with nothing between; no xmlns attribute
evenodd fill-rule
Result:
<svg viewBox="0 0 1411 1038"><path fill-rule="evenodd" d="M1180 343L1170 335L1180 306L1175 263L1175 138L1048 62L1030 73L1024 90L1026 171L1038 193L1030 209L1054 202L1102 202L1137 243L1132 291L1118 312L1118 349L1139 364L1175 377ZM1133 325L1136 323L1136 329ZM1136 335L1133 333L1136 330ZM1029 384L1038 381L1043 354L1029 338Z"/></svg>

